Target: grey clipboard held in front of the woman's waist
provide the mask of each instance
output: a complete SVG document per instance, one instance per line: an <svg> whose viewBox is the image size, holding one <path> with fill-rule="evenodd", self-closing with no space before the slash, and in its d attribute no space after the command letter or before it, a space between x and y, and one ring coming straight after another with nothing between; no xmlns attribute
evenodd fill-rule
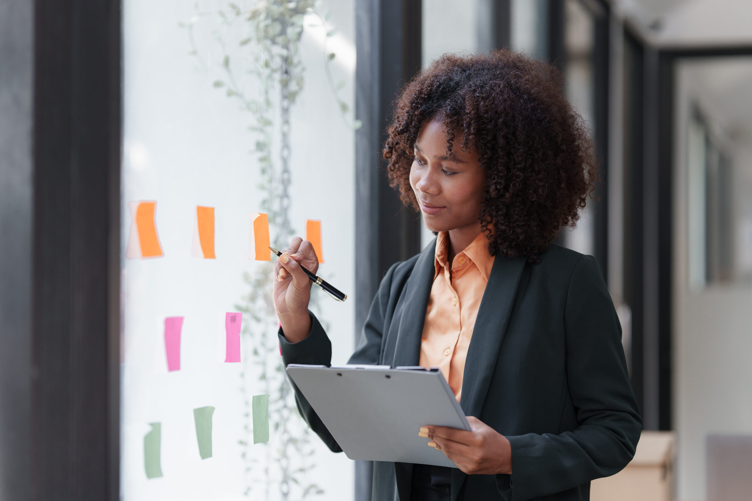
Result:
<svg viewBox="0 0 752 501"><path fill-rule="evenodd" d="M456 468L418 436L426 424L470 430L438 369L290 364L287 374L350 459Z"/></svg>

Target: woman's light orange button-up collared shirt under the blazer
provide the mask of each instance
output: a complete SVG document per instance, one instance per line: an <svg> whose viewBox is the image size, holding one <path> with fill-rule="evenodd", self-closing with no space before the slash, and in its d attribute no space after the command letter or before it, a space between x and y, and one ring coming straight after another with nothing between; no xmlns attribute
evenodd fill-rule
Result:
<svg viewBox="0 0 752 501"><path fill-rule="evenodd" d="M483 232L454 256L451 269L448 256L449 235L441 231L436 239L436 273L423 324L420 365L441 369L459 402L465 358L493 256L488 253L488 240Z"/></svg>

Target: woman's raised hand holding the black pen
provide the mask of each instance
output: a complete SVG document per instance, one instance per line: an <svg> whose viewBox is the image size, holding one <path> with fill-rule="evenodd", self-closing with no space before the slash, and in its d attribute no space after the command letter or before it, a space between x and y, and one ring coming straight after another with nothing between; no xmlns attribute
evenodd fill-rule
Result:
<svg viewBox="0 0 752 501"><path fill-rule="evenodd" d="M282 332L289 343L298 343L311 332L311 315L308 302L311 300L311 279L301 266L316 273L319 260L314 246L301 237L293 238L290 247L274 261L274 287L272 297Z"/></svg>

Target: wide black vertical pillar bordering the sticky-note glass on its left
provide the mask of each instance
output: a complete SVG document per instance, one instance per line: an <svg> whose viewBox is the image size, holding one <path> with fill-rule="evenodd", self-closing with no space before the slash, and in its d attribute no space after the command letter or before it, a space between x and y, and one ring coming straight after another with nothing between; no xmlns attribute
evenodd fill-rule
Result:
<svg viewBox="0 0 752 501"><path fill-rule="evenodd" d="M117 499L120 2L37 0L32 499Z"/></svg>

